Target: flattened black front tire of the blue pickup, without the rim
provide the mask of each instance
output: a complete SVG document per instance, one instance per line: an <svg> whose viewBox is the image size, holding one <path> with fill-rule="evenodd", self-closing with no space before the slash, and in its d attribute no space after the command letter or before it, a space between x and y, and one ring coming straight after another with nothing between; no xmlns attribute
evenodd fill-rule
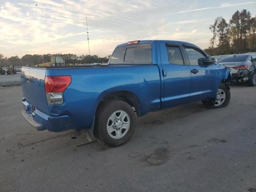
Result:
<svg viewBox="0 0 256 192"><path fill-rule="evenodd" d="M216 106L215 105L216 99L204 100L204 101L202 101L202 104L206 108L216 109L216 108L222 108L222 107L228 106L228 103L229 103L230 97L231 97L230 88L226 84L221 83L218 89L222 89L225 92L225 94L226 94L225 101L220 106Z"/></svg>

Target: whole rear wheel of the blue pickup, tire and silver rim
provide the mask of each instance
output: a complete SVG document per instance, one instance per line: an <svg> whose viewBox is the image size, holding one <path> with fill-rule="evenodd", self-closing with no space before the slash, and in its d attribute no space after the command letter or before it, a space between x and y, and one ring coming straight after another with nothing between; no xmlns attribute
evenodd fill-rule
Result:
<svg viewBox="0 0 256 192"><path fill-rule="evenodd" d="M132 107L120 100L103 103L96 112L94 136L110 147L117 147L130 140L136 125Z"/></svg>

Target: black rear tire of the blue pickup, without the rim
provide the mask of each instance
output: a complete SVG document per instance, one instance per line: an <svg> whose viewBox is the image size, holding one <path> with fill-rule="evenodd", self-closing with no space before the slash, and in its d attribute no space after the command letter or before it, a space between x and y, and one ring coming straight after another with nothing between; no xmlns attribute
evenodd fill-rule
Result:
<svg viewBox="0 0 256 192"><path fill-rule="evenodd" d="M108 121L110 116L118 110L122 110L128 115L128 118L130 119L130 127L128 128L128 131L126 132L126 134L122 136L122 138L115 139L115 138L112 138L110 134L108 134L107 125L108 123L110 123ZM100 142L103 142L104 144L110 147L117 147L122 144L125 144L126 142L128 142L128 140L130 140L130 138L132 137L132 134L134 133L135 126L136 126L136 115L132 107L124 101L109 100L107 102L104 102L97 109L96 116L95 116L95 124L94 124L94 136L98 140L100 140ZM120 132L122 132L121 129L120 129Z"/></svg>

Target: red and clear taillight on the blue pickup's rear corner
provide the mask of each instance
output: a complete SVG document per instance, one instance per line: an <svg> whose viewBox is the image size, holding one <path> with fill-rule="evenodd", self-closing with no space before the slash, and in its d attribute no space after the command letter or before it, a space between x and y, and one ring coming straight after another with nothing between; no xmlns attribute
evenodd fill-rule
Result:
<svg viewBox="0 0 256 192"><path fill-rule="evenodd" d="M63 92L70 85L71 76L46 76L44 81L47 103L59 105L63 103Z"/></svg>

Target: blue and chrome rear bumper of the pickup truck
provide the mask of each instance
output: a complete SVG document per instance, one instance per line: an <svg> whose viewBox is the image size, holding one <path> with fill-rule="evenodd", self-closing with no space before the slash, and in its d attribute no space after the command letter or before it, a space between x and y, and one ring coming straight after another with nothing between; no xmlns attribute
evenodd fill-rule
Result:
<svg viewBox="0 0 256 192"><path fill-rule="evenodd" d="M22 111L23 117L38 131L47 129L51 132L62 132L73 128L67 115L49 116L38 109L32 111L32 105L25 99L22 100L22 103L24 107Z"/></svg>

